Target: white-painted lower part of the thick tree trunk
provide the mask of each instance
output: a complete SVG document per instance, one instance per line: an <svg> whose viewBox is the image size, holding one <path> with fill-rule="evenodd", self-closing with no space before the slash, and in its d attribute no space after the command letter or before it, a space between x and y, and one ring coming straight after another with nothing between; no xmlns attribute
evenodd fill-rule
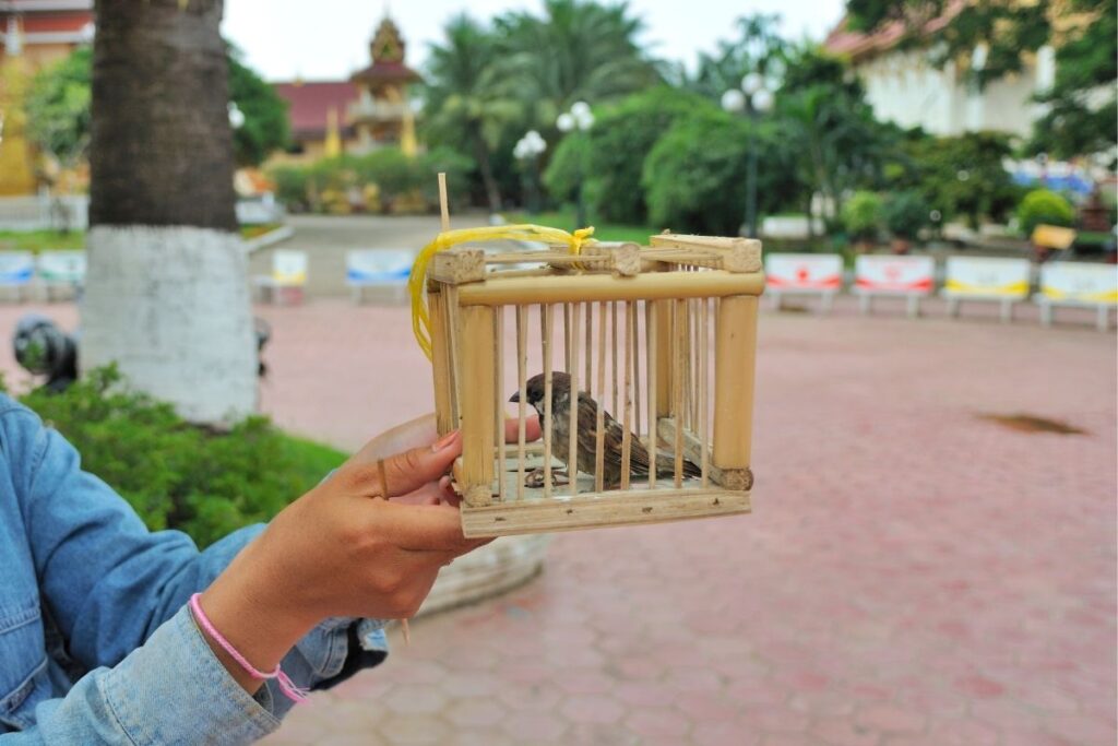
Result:
<svg viewBox="0 0 1118 746"><path fill-rule="evenodd" d="M97 226L86 238L78 361L116 362L135 389L197 423L256 409L257 353L240 237Z"/></svg>

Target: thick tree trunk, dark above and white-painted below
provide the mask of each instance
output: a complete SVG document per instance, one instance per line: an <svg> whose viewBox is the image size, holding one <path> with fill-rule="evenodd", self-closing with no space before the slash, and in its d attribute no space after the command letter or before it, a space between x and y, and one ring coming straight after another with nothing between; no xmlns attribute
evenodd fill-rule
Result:
<svg viewBox="0 0 1118 746"><path fill-rule="evenodd" d="M96 0L83 368L195 422L256 405L222 0Z"/></svg>

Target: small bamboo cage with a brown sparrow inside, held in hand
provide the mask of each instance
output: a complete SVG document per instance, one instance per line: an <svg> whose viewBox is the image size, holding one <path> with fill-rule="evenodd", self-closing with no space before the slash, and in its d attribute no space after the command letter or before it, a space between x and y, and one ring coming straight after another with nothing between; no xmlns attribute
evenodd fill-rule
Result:
<svg viewBox="0 0 1118 746"><path fill-rule="evenodd" d="M749 512L760 242L579 248L456 246L419 277L464 533Z"/></svg>

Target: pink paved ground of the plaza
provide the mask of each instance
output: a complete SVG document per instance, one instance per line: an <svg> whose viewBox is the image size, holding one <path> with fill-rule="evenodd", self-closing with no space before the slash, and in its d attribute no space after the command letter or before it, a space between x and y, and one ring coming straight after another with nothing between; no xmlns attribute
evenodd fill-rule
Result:
<svg viewBox="0 0 1118 746"><path fill-rule="evenodd" d="M285 426L430 407L402 310L260 312ZM559 535L267 743L1115 744L1115 337L940 314L762 314L754 514Z"/></svg>

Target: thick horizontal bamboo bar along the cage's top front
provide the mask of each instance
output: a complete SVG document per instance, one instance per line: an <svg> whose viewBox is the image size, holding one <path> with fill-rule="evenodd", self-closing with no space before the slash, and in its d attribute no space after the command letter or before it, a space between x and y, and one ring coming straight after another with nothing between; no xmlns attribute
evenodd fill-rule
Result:
<svg viewBox="0 0 1118 746"><path fill-rule="evenodd" d="M557 275L547 283L533 277L491 277L458 286L463 305L515 305L578 301L676 300L723 295L760 295L765 276L721 270L695 273L681 282L674 273L654 272L636 277L612 275Z"/></svg>

